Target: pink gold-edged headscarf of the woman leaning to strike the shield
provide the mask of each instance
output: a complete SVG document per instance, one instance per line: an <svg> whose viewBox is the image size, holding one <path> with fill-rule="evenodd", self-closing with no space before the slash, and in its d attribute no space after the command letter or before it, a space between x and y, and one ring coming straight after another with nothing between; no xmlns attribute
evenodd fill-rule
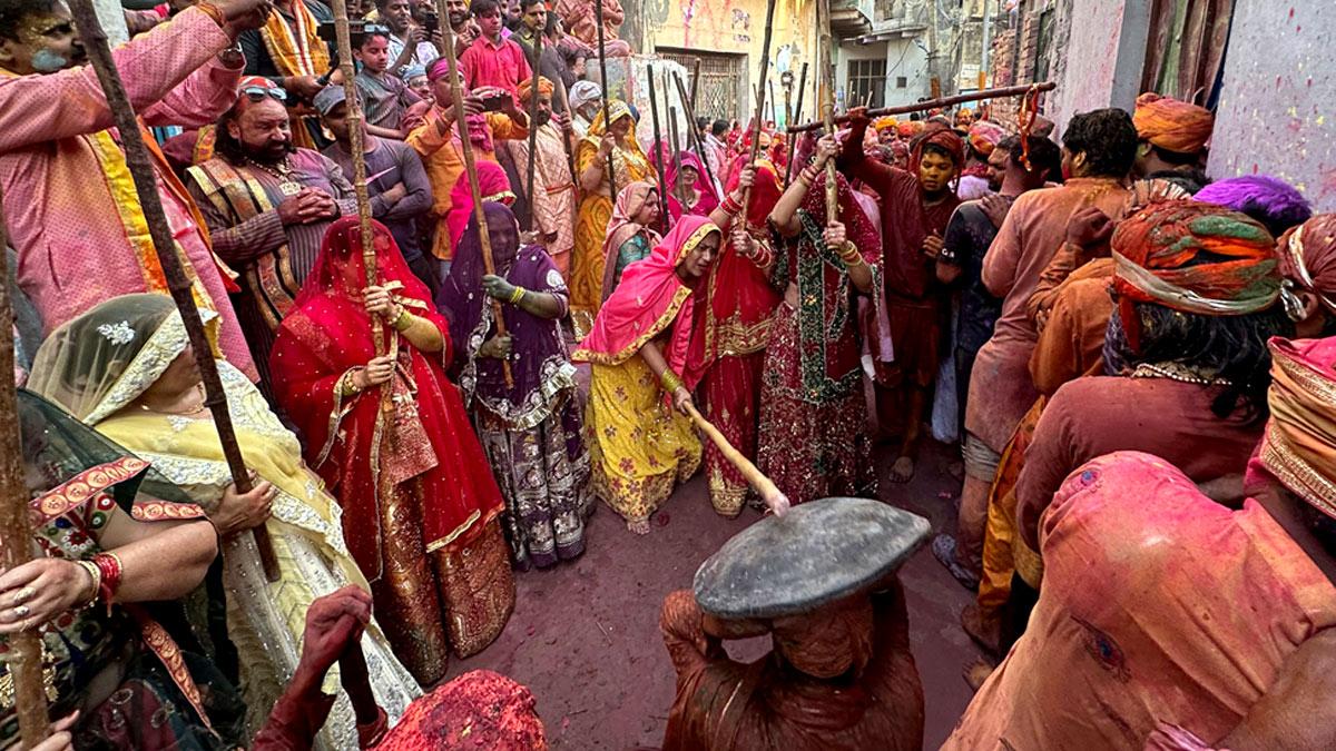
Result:
<svg viewBox="0 0 1336 751"><path fill-rule="evenodd" d="M683 216L649 258L627 267L621 283L599 310L593 330L570 359L620 365L671 326L672 343L664 357L675 371L687 376L693 301L691 287L677 277L677 265L713 233L719 227L709 219ZM688 389L695 388L684 380Z"/></svg>

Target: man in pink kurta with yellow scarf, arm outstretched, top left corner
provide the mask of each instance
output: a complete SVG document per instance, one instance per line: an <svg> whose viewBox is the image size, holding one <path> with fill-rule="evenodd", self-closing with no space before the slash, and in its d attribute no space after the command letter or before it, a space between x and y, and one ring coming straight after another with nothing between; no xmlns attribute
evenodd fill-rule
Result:
<svg viewBox="0 0 1336 751"><path fill-rule="evenodd" d="M262 0L214 0L116 48L144 126L202 126L231 106L243 60L236 36L265 23ZM69 12L55 0L0 4L0 186L16 278L47 330L120 294L163 293L120 136ZM227 283L184 186L152 148L158 191L196 299L222 318L227 358L251 377Z"/></svg>

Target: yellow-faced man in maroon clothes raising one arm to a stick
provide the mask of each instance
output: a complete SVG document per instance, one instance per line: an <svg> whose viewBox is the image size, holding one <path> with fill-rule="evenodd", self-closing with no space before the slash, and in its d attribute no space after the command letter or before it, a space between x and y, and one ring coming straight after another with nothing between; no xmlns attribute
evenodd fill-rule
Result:
<svg viewBox="0 0 1336 751"><path fill-rule="evenodd" d="M926 131L914 140L911 171L904 171L867 159L866 107L850 111L850 126L840 170L882 196L882 273L895 362L874 358L876 417L883 433L898 433L899 438L891 481L907 482L914 476L923 416L941 365L938 347L947 310L933 266L946 223L961 204L951 183L965 166L965 142L950 124Z"/></svg>

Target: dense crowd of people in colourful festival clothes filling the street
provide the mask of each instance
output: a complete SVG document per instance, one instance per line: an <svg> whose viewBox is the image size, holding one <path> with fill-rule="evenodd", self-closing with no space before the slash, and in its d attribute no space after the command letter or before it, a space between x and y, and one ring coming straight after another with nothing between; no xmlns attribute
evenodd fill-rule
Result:
<svg viewBox="0 0 1336 751"><path fill-rule="evenodd" d="M720 516L782 513L701 416L791 504L890 500L879 476L911 480L925 433L959 445L931 551L977 592L961 627L986 657L947 747L1332 744L1336 219L1276 178L1210 182L1208 110L1146 94L1061 146L986 108L644 144L587 72L589 3L444 7L353 8L357 103L321 0L127 11L114 59L196 353L68 9L0 0L40 552L0 571L0 659L41 635L51 748L544 747L524 687L442 683L450 659L502 632L516 572L585 551L600 500L648 535L703 469ZM620 21L608 0L609 56ZM807 727L804 700L875 664L859 696L918 695L916 726L878 722L922 735L903 595L876 603L894 659L808 669L830 644L778 641L774 690L728 722ZM687 659L699 613L669 605L696 676L669 736L692 747L729 711L691 700L721 657ZM0 665L0 746L13 691ZM840 707L808 730L867 738Z"/></svg>

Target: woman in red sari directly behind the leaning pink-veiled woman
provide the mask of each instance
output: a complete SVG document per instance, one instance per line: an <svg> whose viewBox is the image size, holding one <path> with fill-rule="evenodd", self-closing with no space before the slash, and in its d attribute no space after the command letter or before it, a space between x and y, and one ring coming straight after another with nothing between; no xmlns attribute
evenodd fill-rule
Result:
<svg viewBox="0 0 1336 751"><path fill-rule="evenodd" d="M728 184L725 211L737 208L732 196L741 195L739 170ZM767 218L783 187L774 163L758 160L751 180L751 206L745 224L733 216L728 242L709 277L707 303L696 317L700 333L692 338L693 359L704 377L700 396L705 416L747 458L756 458L756 424L760 416L760 373L766 362L770 319L779 294L770 286L775 265ZM747 498L747 481L713 445L705 445L705 477L715 510L735 517Z"/></svg>

